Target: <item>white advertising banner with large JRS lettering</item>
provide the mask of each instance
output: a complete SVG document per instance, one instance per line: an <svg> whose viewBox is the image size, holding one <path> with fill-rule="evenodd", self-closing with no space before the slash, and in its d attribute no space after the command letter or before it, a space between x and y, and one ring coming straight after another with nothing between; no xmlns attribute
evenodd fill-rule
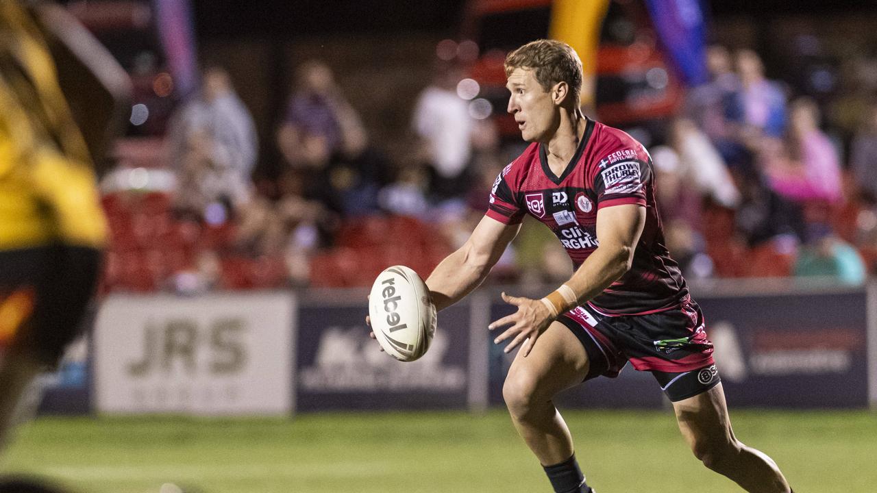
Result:
<svg viewBox="0 0 877 493"><path fill-rule="evenodd" d="M97 411L289 413L293 311L285 293L110 297L94 331Z"/></svg>

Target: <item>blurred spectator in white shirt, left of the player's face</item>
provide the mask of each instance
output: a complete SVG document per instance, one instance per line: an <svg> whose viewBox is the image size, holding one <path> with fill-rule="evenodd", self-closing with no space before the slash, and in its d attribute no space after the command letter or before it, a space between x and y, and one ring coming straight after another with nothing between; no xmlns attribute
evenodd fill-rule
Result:
<svg viewBox="0 0 877 493"><path fill-rule="evenodd" d="M413 126L424 139L430 166L430 192L439 200L465 196L471 183L474 118L467 101L457 95L460 68L437 62L435 73L417 99Z"/></svg>

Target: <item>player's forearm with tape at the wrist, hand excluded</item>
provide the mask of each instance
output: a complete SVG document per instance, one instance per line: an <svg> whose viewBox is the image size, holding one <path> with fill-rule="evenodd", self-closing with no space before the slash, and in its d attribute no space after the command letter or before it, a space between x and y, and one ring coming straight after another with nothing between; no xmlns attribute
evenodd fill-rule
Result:
<svg viewBox="0 0 877 493"><path fill-rule="evenodd" d="M632 261L631 247L597 247L569 281L542 298L543 303L555 316L585 304L630 270Z"/></svg>

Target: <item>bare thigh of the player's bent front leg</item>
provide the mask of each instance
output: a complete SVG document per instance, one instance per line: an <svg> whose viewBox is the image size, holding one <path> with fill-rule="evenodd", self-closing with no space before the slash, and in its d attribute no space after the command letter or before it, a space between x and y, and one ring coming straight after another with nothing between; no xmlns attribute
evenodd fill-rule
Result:
<svg viewBox="0 0 877 493"><path fill-rule="evenodd" d="M553 322L536 340L530 354L518 351L503 386L503 396L550 399L585 380L588 353L566 325Z"/></svg>

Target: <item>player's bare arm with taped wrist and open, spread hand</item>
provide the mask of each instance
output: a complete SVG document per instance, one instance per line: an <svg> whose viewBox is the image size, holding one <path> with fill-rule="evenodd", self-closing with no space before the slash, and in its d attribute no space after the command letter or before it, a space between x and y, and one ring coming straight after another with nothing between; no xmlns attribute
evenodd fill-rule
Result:
<svg viewBox="0 0 877 493"><path fill-rule="evenodd" d="M517 306L517 312L490 324L490 330L512 326L494 342L514 337L505 352L529 339L522 351L530 354L536 339L561 313L596 297L630 270L639 236L645 226L645 207L637 204L606 207L597 212L596 232L600 246L588 255L573 277L559 289L540 299L509 297L503 301Z"/></svg>

